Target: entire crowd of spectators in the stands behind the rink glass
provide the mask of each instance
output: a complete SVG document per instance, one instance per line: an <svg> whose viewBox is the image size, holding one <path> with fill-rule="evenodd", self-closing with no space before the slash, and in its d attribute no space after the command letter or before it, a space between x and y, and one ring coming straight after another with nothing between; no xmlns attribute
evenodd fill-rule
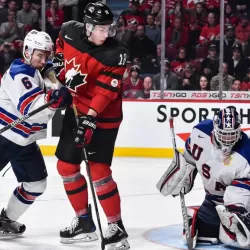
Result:
<svg viewBox="0 0 250 250"><path fill-rule="evenodd" d="M46 31L56 40L65 21L82 21L91 0L47 0ZM107 1L108 3L108 1ZM112 8L112 6L111 6ZM161 16L166 11L165 60ZM147 99L150 90L219 89L220 0L128 0L116 38L128 48L124 98ZM250 90L250 0L225 0L223 90ZM41 30L41 0L0 0L0 78L22 57L23 39Z"/></svg>

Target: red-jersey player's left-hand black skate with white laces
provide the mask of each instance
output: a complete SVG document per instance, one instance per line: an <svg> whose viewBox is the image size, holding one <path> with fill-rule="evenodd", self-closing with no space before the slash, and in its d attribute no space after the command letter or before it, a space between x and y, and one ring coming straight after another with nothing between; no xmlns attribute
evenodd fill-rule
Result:
<svg viewBox="0 0 250 250"><path fill-rule="evenodd" d="M72 244L75 242L89 242L98 240L96 226L92 219L91 209L89 214L74 218L70 227L60 231L61 243Z"/></svg>

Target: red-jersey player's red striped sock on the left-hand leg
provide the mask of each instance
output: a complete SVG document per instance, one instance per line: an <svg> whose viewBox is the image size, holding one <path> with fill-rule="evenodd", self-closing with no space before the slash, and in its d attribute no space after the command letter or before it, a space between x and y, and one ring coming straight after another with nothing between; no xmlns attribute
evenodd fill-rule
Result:
<svg viewBox="0 0 250 250"><path fill-rule="evenodd" d="M88 213L87 182L80 173L80 165L63 161L57 162L58 173L62 176L64 188L77 216Z"/></svg>

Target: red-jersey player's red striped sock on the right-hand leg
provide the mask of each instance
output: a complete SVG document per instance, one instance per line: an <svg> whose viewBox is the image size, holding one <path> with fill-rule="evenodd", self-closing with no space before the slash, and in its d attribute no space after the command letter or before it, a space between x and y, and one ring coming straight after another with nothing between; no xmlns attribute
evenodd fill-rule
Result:
<svg viewBox="0 0 250 250"><path fill-rule="evenodd" d="M91 175L96 194L109 223L121 219L121 200L117 185L111 176L110 166L103 163L90 163Z"/></svg>

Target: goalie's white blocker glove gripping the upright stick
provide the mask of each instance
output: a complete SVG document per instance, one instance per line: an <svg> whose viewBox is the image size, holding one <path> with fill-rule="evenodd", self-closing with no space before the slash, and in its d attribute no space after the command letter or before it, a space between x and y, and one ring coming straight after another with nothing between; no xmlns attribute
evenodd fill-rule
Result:
<svg viewBox="0 0 250 250"><path fill-rule="evenodd" d="M193 187L196 174L196 167L188 163L184 156L176 150L171 165L158 181L156 187L163 196L176 196L180 194L181 190L187 194Z"/></svg>

